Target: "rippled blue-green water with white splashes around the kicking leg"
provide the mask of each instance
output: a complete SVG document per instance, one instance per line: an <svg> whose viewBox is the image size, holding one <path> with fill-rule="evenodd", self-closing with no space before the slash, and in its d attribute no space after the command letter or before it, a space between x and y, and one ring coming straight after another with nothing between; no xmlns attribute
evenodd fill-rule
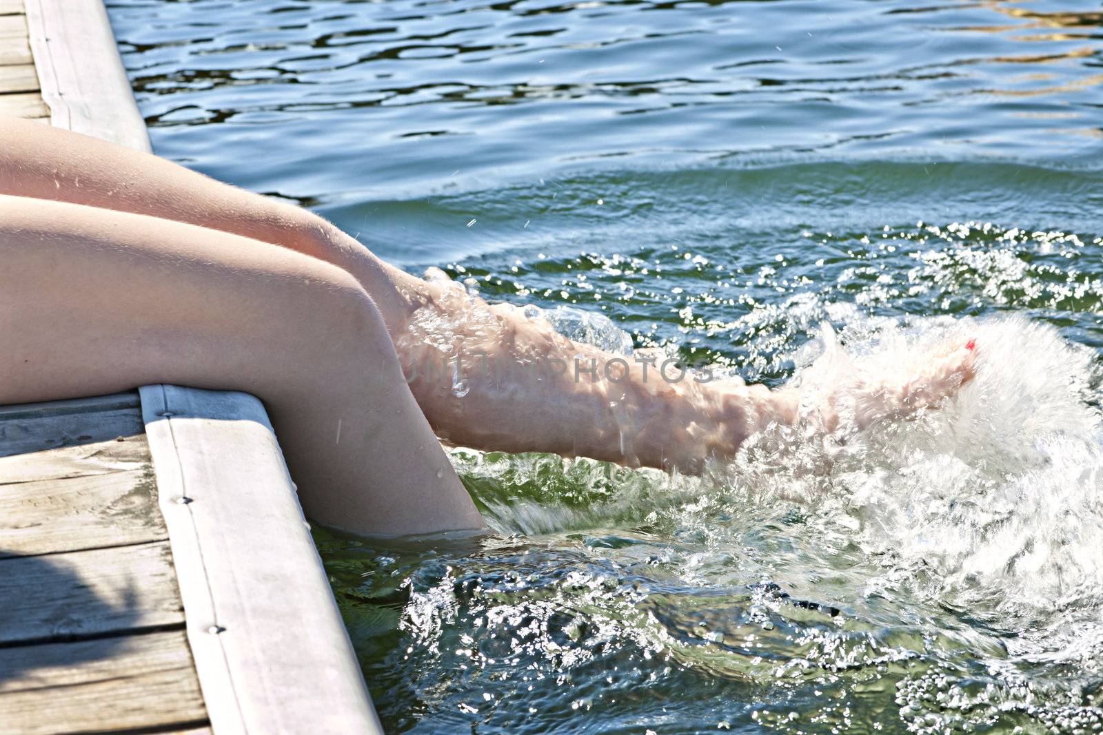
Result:
<svg viewBox="0 0 1103 735"><path fill-rule="evenodd" d="M770 385L823 324L983 347L941 411L842 445L704 478L458 450L494 534L319 531L388 731L1103 727L1097 3L110 12L159 153L415 272Z"/></svg>

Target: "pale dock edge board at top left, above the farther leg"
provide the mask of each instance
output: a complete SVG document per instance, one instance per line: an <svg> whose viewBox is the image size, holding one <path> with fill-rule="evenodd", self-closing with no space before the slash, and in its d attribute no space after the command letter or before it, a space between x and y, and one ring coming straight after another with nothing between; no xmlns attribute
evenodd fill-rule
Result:
<svg viewBox="0 0 1103 735"><path fill-rule="evenodd" d="M25 0L25 10L54 126L151 151L103 0Z"/></svg>

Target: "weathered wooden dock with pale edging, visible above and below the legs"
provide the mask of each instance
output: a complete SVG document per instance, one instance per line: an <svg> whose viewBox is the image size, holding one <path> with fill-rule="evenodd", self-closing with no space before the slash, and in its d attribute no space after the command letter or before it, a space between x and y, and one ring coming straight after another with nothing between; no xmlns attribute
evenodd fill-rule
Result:
<svg viewBox="0 0 1103 735"><path fill-rule="evenodd" d="M101 0L0 0L0 115L149 150ZM0 735L375 735L261 403L0 407Z"/></svg>

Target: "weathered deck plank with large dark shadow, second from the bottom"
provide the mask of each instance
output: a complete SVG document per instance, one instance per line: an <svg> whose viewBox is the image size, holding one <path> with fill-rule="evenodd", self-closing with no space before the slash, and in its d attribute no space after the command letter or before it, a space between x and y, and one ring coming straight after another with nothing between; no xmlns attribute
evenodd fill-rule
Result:
<svg viewBox="0 0 1103 735"><path fill-rule="evenodd" d="M0 559L0 646L183 621L167 541Z"/></svg>

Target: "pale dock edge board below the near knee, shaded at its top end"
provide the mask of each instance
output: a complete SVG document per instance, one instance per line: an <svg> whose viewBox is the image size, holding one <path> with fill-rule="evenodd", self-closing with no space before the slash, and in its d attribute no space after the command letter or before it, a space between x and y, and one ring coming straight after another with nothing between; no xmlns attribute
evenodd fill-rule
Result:
<svg viewBox="0 0 1103 735"><path fill-rule="evenodd" d="M215 732L382 733L260 401L139 390Z"/></svg>

